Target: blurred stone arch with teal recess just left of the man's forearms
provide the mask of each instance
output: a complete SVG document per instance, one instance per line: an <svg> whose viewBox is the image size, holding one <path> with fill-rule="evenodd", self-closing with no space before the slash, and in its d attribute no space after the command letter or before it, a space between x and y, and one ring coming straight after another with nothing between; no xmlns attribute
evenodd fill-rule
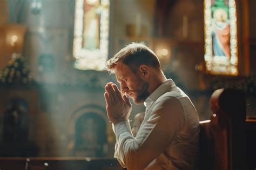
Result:
<svg viewBox="0 0 256 170"><path fill-rule="evenodd" d="M78 105L69 112L65 122L71 155L103 157L107 154L112 133L105 108L97 104Z"/></svg>

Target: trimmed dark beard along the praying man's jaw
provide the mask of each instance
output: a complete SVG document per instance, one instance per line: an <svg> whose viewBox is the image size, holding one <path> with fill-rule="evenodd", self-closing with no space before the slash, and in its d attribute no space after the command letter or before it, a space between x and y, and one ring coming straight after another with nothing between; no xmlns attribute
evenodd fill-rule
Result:
<svg viewBox="0 0 256 170"><path fill-rule="evenodd" d="M137 96L133 99L135 104L142 104L147 97L150 96L150 93L147 92L149 89L149 83L147 81L142 80L140 77L139 80L139 86L136 90Z"/></svg>

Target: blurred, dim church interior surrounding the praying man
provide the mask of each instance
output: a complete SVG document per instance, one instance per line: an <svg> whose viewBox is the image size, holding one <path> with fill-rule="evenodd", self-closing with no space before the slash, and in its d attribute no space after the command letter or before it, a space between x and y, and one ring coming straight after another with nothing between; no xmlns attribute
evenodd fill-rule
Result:
<svg viewBox="0 0 256 170"><path fill-rule="evenodd" d="M221 112L216 90L241 92L220 95L244 114L246 133L228 136L223 166L206 169L255 169L255 12L255 0L0 0L0 169L123 169L104 99L117 81L104 66L131 42L157 54L202 124ZM145 110L132 105L131 126ZM218 162L221 148L207 158Z"/></svg>

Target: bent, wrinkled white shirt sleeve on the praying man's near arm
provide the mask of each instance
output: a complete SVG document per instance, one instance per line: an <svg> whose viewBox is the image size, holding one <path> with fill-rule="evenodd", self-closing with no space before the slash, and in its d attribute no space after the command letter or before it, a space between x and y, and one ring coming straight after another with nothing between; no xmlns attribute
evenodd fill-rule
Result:
<svg viewBox="0 0 256 170"><path fill-rule="evenodd" d="M129 121L113 126L116 134L114 158L127 169L144 169L165 151L183 124L184 112L180 101L165 97L153 106L149 119L139 128L136 138L132 135Z"/></svg>

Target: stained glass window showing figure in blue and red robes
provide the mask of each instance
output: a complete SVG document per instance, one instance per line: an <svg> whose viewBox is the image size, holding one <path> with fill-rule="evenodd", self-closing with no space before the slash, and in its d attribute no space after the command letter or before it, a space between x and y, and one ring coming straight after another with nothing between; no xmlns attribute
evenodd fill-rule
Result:
<svg viewBox="0 0 256 170"><path fill-rule="evenodd" d="M235 0L205 0L204 15L206 72L238 75Z"/></svg>

